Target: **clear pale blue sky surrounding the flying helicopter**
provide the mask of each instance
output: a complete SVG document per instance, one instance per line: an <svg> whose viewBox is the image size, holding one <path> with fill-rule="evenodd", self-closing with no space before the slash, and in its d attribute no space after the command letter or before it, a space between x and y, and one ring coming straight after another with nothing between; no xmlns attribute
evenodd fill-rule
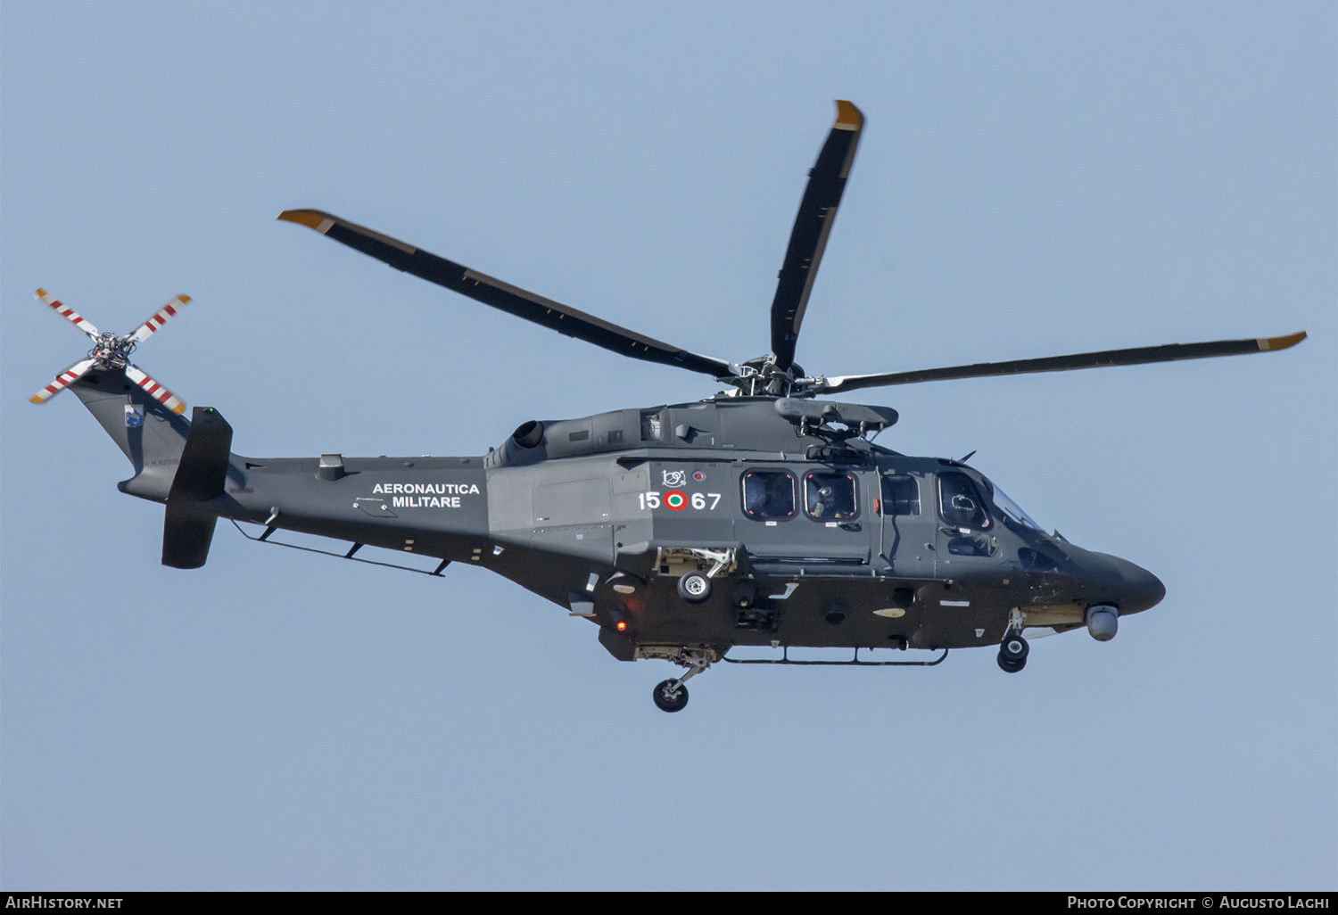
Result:
<svg viewBox="0 0 1338 915"><path fill-rule="evenodd" d="M0 7L0 886L1334 888L1331 3ZM662 662L471 569L162 510L45 286L250 455L482 453L692 400L274 221L318 207L727 359L832 99L867 126L799 361L1276 336L1275 356L860 392L1155 571L1101 645L892 670Z"/></svg>

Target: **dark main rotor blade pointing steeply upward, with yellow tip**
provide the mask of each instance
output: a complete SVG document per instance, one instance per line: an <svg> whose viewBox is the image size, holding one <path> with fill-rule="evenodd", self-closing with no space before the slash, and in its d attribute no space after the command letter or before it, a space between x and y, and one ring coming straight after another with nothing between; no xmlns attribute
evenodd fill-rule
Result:
<svg viewBox="0 0 1338 915"><path fill-rule="evenodd" d="M836 206L846 190L846 178L855 163L855 148L864 127L864 115L846 100L836 102L836 123L827 134L818 163L808 173L808 187L799 203L799 215L789 233L789 247L780 266L776 298L771 302L771 352L776 367L788 369L795 361L795 341L804 321L808 294L814 289L818 265L836 219Z"/></svg>

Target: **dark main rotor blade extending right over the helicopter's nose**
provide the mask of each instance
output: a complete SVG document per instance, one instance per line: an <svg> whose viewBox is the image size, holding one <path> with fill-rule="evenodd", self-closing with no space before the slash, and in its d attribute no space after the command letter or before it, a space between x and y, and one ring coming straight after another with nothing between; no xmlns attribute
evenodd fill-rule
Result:
<svg viewBox="0 0 1338 915"><path fill-rule="evenodd" d="M838 393L856 388L879 388L888 384L918 384L950 379L983 379L991 375L1028 375L1032 372L1065 372L1105 365L1143 365L1147 363L1173 363L1181 359L1210 359L1212 356L1244 356L1267 353L1295 346L1306 338L1306 332L1286 337L1256 340L1218 340L1202 344L1168 344L1165 346L1136 346L1132 349L1105 349L1098 353L1048 356L1045 359L1016 359L1009 363L975 363L951 368L922 369L919 372L888 372L883 375L836 375L815 385L818 393Z"/></svg>

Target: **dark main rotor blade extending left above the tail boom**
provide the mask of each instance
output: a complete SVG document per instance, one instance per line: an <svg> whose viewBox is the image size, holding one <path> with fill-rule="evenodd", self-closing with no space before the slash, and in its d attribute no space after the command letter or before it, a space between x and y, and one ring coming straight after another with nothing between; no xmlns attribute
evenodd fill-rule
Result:
<svg viewBox="0 0 1338 915"><path fill-rule="evenodd" d="M685 349L653 337L646 337L636 330L619 328L617 324L602 321L593 314L578 312L551 298L535 296L519 286L512 286L494 277L484 276L455 261L429 254L365 226L340 219L329 213L322 213L321 210L285 210L278 214L278 218L314 229L322 235L328 235L337 242L343 242L352 249L389 264L396 270L412 273L428 282L446 286L462 296L468 296L484 305L491 305L526 321L542 324L569 337L577 337L578 340L593 342L597 346L603 346L605 349L611 349L615 353L632 356L633 359L660 363L662 365L677 365L717 379L735 375L729 363L721 359L689 353Z"/></svg>

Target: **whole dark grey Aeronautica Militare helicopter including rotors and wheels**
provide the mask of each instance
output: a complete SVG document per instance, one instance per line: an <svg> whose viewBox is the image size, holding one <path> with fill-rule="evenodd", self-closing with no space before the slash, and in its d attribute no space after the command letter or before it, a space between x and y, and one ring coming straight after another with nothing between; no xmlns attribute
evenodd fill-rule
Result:
<svg viewBox="0 0 1338 915"><path fill-rule="evenodd" d="M1275 352L1283 337L1115 349L875 375L824 376L796 361L823 250L864 127L836 119L808 174L771 306L771 353L733 363L603 321L321 210L285 210L363 254L475 301L632 359L724 387L698 401L529 420L478 456L248 458L213 407L186 404L130 360L189 302L170 300L134 332L104 333L43 289L37 298L94 341L31 397L70 388L131 462L122 492L165 504L162 563L205 565L219 518L246 536L277 531L381 547L498 573L590 621L619 661L682 672L653 688L678 712L686 681L713 664L934 666L958 647L997 646L1021 672L1028 638L1086 629L1109 641L1120 617L1165 587L1125 559L1046 532L962 459L899 453L874 437L890 407L831 400L862 388ZM823 399L819 399L823 397ZM973 452L974 453L974 452ZM240 523L264 528L246 534ZM297 547L308 548L308 547ZM780 657L731 657L735 647ZM846 649L848 659L791 658ZM911 649L929 659L870 659ZM860 658L860 650L866 651ZM895 655L903 657L903 655Z"/></svg>

